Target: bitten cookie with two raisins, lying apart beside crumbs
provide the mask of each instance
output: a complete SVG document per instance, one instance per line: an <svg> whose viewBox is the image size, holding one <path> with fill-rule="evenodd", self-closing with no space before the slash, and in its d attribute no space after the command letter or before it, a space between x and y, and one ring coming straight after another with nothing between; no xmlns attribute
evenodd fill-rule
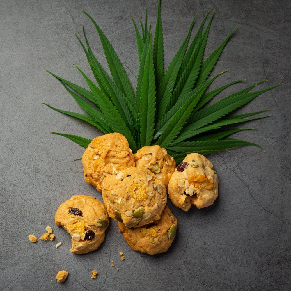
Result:
<svg viewBox="0 0 291 291"><path fill-rule="evenodd" d="M103 242L109 217L103 203L96 198L75 195L58 207L55 222L70 233L70 251L84 254L94 251Z"/></svg>

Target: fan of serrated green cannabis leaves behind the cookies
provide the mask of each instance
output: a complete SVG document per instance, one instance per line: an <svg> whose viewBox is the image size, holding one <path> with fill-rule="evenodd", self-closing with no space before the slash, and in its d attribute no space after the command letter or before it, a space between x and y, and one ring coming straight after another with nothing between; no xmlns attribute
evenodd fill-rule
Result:
<svg viewBox="0 0 291 291"><path fill-rule="evenodd" d="M67 81L48 70L47 72L61 82L75 102L88 114L65 111L46 103L43 104L57 112L83 120L104 133L119 132L123 134L133 152L145 145L160 145L168 150L176 162L182 161L185 155L191 152L206 155L243 145L261 148L255 143L228 137L251 128L230 128L229 126L266 118L270 115L256 115L265 113L269 109L236 115L233 112L262 93L281 84L251 91L267 80L260 81L207 106L208 102L226 88L245 81L245 79L235 80L219 88L208 90L216 78L227 72L225 70L208 79L237 25L221 45L205 58L205 47L214 11L210 17L210 11L206 13L193 40L189 43L197 17L196 13L184 41L168 68L164 70L161 1L158 0L153 43L151 25L148 25L147 9L145 9L144 24L141 19L135 22L131 16L139 58L134 93L125 69L109 39L91 15L82 11L97 30L111 76L93 54L83 27L84 41L79 36L75 36L84 50L95 80L91 80L77 66L75 68L85 79L88 89ZM208 17L208 24L203 31ZM141 33L138 24L140 24ZM91 142L90 139L72 134L57 132L52 132L52 134L64 136L84 148L87 148Z"/></svg>

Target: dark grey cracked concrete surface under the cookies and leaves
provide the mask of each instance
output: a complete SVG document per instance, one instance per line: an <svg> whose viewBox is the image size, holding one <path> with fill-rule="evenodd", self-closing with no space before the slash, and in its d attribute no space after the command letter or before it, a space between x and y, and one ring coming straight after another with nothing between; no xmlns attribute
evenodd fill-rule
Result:
<svg viewBox="0 0 291 291"><path fill-rule="evenodd" d="M166 66L188 30L208 9L216 9L206 55L238 23L214 73L228 69L212 88L247 78L222 95L263 79L284 85L267 92L241 112L272 109L273 116L236 134L255 147L213 154L219 171L219 198L213 206L183 212L177 237L161 255L132 251L112 222L102 246L87 255L69 252L70 236L54 226L58 205L74 194L100 198L83 179L82 148L49 131L93 138L90 125L54 112L41 102L71 111L80 109L43 69L85 86L76 64L89 72L74 32L84 24L102 65L104 54L93 25L97 20L116 48L132 84L138 60L130 14L155 24L156 1L0 1L0 290L290 290L290 4L289 1L186 1L162 3ZM276 3L275 3L276 2ZM197 25L195 26L197 28ZM264 88L266 85L262 85ZM42 223L40 225L39 223ZM29 242L53 226L54 242ZM62 242L56 249L56 242ZM120 260L119 251L125 253ZM111 267L113 260L119 271ZM56 283L60 269L70 272ZM97 269L96 280L89 277ZM51 279L51 277L53 277Z"/></svg>

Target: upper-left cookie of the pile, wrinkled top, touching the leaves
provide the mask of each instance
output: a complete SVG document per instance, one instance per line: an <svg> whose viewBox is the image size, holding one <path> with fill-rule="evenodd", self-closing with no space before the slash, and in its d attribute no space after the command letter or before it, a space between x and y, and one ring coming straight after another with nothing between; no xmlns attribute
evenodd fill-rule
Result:
<svg viewBox="0 0 291 291"><path fill-rule="evenodd" d="M134 166L134 157L127 139L115 132L93 139L82 156L82 164L85 181L101 192L103 179Z"/></svg>

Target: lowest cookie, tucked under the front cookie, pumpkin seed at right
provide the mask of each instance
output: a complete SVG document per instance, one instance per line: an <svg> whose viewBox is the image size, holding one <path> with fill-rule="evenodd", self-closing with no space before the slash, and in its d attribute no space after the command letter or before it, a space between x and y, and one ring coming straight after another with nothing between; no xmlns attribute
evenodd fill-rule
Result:
<svg viewBox="0 0 291 291"><path fill-rule="evenodd" d="M155 255L166 252L171 246L176 236L177 219L166 206L159 221L136 228L119 222L118 227L133 250Z"/></svg>

